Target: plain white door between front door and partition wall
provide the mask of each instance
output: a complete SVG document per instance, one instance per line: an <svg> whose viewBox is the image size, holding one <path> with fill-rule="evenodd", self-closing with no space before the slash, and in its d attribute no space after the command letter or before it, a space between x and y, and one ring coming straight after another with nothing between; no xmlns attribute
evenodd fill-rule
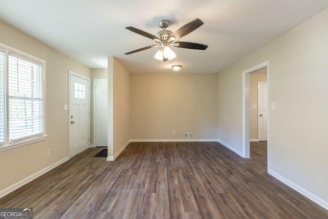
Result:
<svg viewBox="0 0 328 219"><path fill-rule="evenodd" d="M107 146L108 81L93 80L93 144Z"/></svg>

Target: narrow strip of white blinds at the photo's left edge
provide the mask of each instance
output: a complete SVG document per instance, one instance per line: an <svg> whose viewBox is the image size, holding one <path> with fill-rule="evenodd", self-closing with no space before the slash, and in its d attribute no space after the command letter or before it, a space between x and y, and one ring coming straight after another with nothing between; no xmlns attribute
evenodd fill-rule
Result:
<svg viewBox="0 0 328 219"><path fill-rule="evenodd" d="M0 50L0 144L6 141L5 98L5 52Z"/></svg>

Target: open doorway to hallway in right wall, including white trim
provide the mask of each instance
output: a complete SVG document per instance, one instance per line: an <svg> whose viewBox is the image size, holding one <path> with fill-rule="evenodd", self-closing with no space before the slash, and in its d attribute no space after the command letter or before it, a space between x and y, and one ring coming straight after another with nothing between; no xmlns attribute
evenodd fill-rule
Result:
<svg viewBox="0 0 328 219"><path fill-rule="evenodd" d="M243 155L256 155L252 147L264 147L269 161L269 62L243 71Z"/></svg>

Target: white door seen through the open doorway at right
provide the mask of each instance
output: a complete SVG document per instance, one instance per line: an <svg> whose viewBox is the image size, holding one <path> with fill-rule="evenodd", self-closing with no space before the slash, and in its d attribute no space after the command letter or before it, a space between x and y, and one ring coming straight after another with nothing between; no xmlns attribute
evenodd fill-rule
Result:
<svg viewBox="0 0 328 219"><path fill-rule="evenodd" d="M268 141L268 84L258 83L258 140Z"/></svg>

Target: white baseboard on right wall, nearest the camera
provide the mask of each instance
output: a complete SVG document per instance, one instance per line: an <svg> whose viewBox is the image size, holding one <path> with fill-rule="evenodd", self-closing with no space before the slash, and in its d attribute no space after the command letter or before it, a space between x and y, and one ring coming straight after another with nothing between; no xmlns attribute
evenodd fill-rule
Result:
<svg viewBox="0 0 328 219"><path fill-rule="evenodd" d="M328 210L328 202L324 201L322 198L320 198L320 197L316 196L315 194L309 192L308 190L300 187L296 183L293 183L292 181L288 180L287 178L283 177L282 175L276 173L275 171L273 171L271 169L268 170L268 173L270 175L272 175L273 177L277 178L282 183L288 185L289 187L291 187L295 191L297 191L297 192L301 193L302 195L310 198L310 200L312 200L313 202L317 203L322 208Z"/></svg>

